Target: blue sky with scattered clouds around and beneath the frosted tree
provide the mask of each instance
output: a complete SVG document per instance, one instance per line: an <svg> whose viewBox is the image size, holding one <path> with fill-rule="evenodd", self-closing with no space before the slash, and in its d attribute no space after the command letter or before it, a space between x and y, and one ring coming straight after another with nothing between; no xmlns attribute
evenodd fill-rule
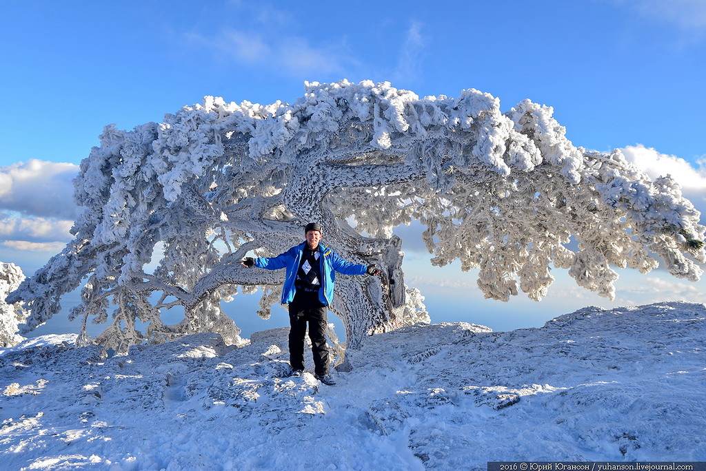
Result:
<svg viewBox="0 0 706 471"><path fill-rule="evenodd" d="M706 211L702 0L26 0L2 2L0 15L0 260L25 274L68 240L71 178L103 126L161 121L205 95L293 102L304 80L387 80L420 97L476 88L503 110L525 98L554 106L575 145L627 148ZM664 271L624 272L614 302L558 271L541 303L486 301L473 274L429 269L414 228L403 232L408 279L436 321L509 329L590 304L706 301L704 282Z"/></svg>

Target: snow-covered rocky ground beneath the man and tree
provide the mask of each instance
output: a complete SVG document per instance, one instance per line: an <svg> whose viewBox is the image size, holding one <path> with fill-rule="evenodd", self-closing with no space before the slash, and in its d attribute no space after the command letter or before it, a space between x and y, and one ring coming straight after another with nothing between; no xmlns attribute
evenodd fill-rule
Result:
<svg viewBox="0 0 706 471"><path fill-rule="evenodd" d="M542 329L417 325L287 370L287 329L101 360L70 337L0 355L5 469L485 470L489 460L706 460L706 307L566 314Z"/></svg>

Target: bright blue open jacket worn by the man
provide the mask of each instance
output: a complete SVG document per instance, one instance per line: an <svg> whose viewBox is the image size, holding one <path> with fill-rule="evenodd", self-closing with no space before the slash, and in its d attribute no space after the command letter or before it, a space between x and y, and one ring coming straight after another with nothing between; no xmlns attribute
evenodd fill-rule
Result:
<svg viewBox="0 0 706 471"><path fill-rule="evenodd" d="M280 268L287 269L285 286L282 288L282 304L289 304L294 300L294 293L297 288L294 286L294 281L297 279L297 270L301 262L301 254L304 253L306 241L299 245L295 245L277 257L266 258L260 257L255 259L255 266L277 270ZM333 300L333 284L336 281L337 271L344 275L364 275L367 273L368 266L362 264L353 264L346 262L339 257L336 252L326 248L325 245L319 244L318 250L321 250L321 257L318 261L321 264L321 289L318 290L318 299L323 302L323 305L328 306Z"/></svg>

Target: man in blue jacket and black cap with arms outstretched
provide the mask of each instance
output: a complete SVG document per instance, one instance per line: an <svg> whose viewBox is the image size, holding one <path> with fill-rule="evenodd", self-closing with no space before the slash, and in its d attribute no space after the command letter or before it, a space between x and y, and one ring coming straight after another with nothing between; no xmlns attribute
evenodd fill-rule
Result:
<svg viewBox="0 0 706 471"><path fill-rule="evenodd" d="M321 226L309 223L304 228L306 240L277 257L247 257L242 265L268 270L287 269L282 288L282 304L289 305L289 365L292 376L304 372L304 336L309 322L309 338L313 353L314 373L323 384L335 381L328 374L329 353L326 348L326 307L333 299L335 271L345 275L378 275L373 265L352 264L321 244Z"/></svg>

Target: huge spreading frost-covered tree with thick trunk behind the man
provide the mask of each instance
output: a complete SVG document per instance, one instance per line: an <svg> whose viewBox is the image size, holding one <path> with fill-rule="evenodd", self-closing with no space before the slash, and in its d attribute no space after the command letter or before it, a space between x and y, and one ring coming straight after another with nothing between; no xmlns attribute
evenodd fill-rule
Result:
<svg viewBox="0 0 706 471"><path fill-rule="evenodd" d="M337 283L331 309L349 345L427 319L392 233L414 219L432 264L479 269L487 298L519 288L539 300L551 267L608 298L613 267L644 273L662 259L675 276L702 273L705 228L678 185L651 181L617 150L575 147L550 107L525 100L503 113L477 90L420 99L388 82L305 88L294 104L205 97L162 123L107 126L76 178L74 240L9 298L31 308L28 328L85 281L71 316L85 326L112 310L99 343L124 349L195 331L238 343L221 300L259 287L267 316L283 278L239 260L301 242L309 221L345 259L383 269L382 279ZM176 305L184 320L164 324L160 313ZM84 331L80 343L90 341Z"/></svg>

